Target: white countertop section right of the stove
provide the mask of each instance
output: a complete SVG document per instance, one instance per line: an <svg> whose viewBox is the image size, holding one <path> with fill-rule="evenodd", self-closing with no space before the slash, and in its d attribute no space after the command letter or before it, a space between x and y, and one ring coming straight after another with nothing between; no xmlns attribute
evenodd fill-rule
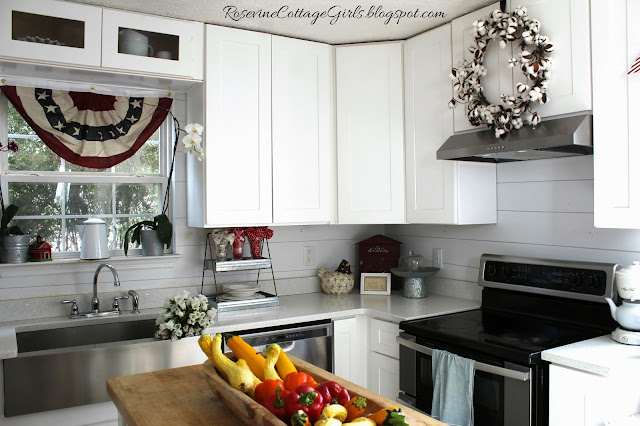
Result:
<svg viewBox="0 0 640 426"><path fill-rule="evenodd" d="M542 359L576 370L610 376L637 370L640 366L640 346L618 343L607 334L546 350L542 352Z"/></svg>

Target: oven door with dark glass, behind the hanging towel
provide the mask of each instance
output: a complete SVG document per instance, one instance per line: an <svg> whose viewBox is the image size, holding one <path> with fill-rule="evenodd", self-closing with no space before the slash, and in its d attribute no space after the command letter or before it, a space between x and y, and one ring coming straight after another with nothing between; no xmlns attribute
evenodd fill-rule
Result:
<svg viewBox="0 0 640 426"><path fill-rule="evenodd" d="M425 414L431 412L433 373L431 353L434 348L416 343L415 336L400 333L399 402ZM476 426L530 426L537 424L532 416L535 389L533 369L521 365L478 360L462 351L457 355L474 359L473 410ZM465 356L466 355L466 356ZM446 421L446 419L445 419Z"/></svg>

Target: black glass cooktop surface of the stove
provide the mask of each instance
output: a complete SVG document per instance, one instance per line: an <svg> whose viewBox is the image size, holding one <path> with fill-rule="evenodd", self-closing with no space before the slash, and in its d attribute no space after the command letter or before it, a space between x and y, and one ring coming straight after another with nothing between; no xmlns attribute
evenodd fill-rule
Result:
<svg viewBox="0 0 640 426"><path fill-rule="evenodd" d="M524 365L539 363L544 350L614 328L606 303L558 302L495 289L484 289L481 309L400 323L401 330L423 345Z"/></svg>

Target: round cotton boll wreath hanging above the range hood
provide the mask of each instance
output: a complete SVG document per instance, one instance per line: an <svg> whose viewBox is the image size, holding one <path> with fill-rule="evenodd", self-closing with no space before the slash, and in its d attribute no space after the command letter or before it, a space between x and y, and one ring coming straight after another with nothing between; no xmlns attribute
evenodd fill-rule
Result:
<svg viewBox="0 0 640 426"><path fill-rule="evenodd" d="M485 19L473 23L475 45L469 47L473 59L462 60L451 70L454 97L449 107L467 104L467 117L474 126L485 125L493 129L496 138L512 129L520 129L525 123L535 126L540 116L531 110L539 102L546 103L551 68L550 53L553 44L540 35L540 22L527 15L527 8L519 6L511 13L495 10ZM502 104L491 104L484 95L480 78L487 74L482 65L484 54L491 40L497 40L500 48L508 42L520 40L520 55L509 60L512 68L520 67L527 82L516 85L516 94L502 94Z"/></svg>

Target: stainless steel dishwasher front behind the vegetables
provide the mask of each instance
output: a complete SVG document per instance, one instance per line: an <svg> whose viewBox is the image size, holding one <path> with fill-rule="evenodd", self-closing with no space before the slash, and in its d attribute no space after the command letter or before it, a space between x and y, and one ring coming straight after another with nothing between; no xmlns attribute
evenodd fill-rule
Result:
<svg viewBox="0 0 640 426"><path fill-rule="evenodd" d="M277 343L287 354L303 359L333 373L333 328L331 321L316 321L292 326L259 328L234 333L262 351L269 343ZM225 345L225 352L229 348Z"/></svg>

